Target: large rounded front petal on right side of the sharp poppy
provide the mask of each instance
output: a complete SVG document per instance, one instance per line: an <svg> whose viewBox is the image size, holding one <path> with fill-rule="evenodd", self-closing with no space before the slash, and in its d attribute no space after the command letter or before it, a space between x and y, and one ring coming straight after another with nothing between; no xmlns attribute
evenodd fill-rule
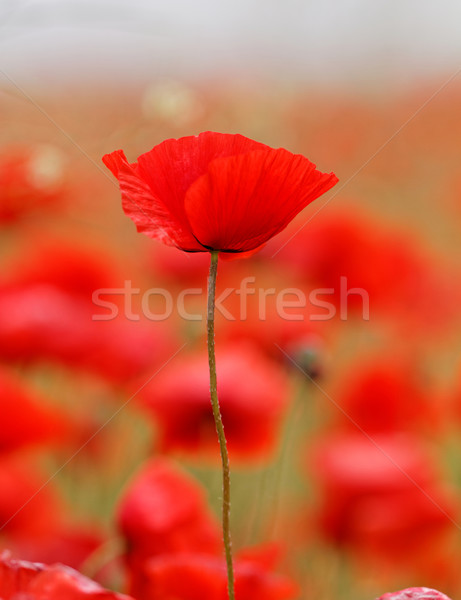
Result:
<svg viewBox="0 0 461 600"><path fill-rule="evenodd" d="M208 249L247 252L282 231L338 181L283 148L216 158L189 188L185 211Z"/></svg>

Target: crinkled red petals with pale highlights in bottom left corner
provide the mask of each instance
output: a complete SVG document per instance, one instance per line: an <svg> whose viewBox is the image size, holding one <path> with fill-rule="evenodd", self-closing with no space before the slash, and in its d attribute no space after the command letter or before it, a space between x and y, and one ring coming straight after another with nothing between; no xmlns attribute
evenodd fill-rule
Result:
<svg viewBox="0 0 461 600"><path fill-rule="evenodd" d="M130 600L128 596L105 590L70 567L12 560L7 553L0 555L0 597L2 600Z"/></svg>

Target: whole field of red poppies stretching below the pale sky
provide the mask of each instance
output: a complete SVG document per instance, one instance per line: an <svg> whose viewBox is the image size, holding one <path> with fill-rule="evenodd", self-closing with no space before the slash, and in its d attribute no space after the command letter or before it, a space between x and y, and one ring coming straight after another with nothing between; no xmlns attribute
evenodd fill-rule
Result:
<svg viewBox="0 0 461 600"><path fill-rule="evenodd" d="M460 597L460 102L0 96L1 600Z"/></svg>

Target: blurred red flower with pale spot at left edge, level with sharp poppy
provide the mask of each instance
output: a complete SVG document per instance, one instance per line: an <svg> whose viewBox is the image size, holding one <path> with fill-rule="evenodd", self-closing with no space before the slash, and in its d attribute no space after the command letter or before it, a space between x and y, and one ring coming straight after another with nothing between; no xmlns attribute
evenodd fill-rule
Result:
<svg viewBox="0 0 461 600"><path fill-rule="evenodd" d="M62 158L51 146L0 153L0 223L55 205L64 194Z"/></svg>

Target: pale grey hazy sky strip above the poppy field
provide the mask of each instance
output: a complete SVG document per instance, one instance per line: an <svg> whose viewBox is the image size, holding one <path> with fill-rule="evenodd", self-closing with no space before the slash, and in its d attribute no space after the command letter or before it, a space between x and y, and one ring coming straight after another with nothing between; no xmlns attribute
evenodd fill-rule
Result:
<svg viewBox="0 0 461 600"><path fill-rule="evenodd" d="M460 67L459 0L0 0L0 69L19 84L398 83Z"/></svg>

